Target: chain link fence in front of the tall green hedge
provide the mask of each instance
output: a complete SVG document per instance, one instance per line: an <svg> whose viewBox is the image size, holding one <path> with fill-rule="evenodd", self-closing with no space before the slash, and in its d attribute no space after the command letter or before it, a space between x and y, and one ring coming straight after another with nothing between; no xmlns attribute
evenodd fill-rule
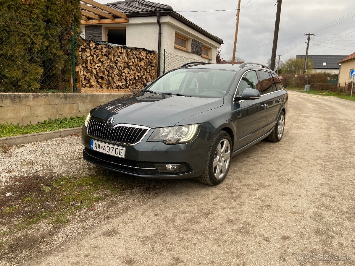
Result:
<svg viewBox="0 0 355 266"><path fill-rule="evenodd" d="M79 34L44 21L2 18L0 92L71 92Z"/></svg>

